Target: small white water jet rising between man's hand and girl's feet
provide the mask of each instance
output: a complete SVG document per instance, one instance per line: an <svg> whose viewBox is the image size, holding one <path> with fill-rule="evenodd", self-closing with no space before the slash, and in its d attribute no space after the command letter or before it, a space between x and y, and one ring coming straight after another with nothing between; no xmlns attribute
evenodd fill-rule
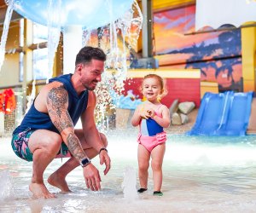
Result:
<svg viewBox="0 0 256 213"><path fill-rule="evenodd" d="M136 172L131 166L125 167L124 181L122 183L124 198L128 201L138 199L136 189Z"/></svg>

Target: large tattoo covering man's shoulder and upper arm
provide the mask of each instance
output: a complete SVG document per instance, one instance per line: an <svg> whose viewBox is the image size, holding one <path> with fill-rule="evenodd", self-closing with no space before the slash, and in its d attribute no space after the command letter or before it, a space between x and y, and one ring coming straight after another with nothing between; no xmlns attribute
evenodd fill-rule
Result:
<svg viewBox="0 0 256 213"><path fill-rule="evenodd" d="M55 124L55 127L61 133L68 127L73 128L73 122L67 112L68 95L67 90L63 86L50 89L47 96L47 105L49 116Z"/></svg>

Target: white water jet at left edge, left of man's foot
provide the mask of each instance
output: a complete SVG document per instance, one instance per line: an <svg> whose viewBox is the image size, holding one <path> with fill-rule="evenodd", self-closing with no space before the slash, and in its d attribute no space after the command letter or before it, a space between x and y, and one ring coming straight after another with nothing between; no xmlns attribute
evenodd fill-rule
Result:
<svg viewBox="0 0 256 213"><path fill-rule="evenodd" d="M12 177L7 170L0 172L0 199L8 199L14 196Z"/></svg>

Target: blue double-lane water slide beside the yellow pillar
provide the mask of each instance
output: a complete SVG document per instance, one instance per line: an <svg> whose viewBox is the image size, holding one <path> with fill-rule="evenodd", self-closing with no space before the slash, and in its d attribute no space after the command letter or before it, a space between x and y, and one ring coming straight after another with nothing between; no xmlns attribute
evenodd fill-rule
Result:
<svg viewBox="0 0 256 213"><path fill-rule="evenodd" d="M187 135L246 135L253 92L206 93Z"/></svg>

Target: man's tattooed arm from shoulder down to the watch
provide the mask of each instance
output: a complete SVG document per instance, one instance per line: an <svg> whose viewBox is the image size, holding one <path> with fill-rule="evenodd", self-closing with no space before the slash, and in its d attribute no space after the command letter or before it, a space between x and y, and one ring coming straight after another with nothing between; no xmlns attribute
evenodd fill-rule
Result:
<svg viewBox="0 0 256 213"><path fill-rule="evenodd" d="M73 121L67 112L67 90L63 86L54 87L49 90L47 107L52 123L61 133L62 139L67 143L69 151L80 162L86 157L86 154L80 144L79 138L74 134Z"/></svg>

